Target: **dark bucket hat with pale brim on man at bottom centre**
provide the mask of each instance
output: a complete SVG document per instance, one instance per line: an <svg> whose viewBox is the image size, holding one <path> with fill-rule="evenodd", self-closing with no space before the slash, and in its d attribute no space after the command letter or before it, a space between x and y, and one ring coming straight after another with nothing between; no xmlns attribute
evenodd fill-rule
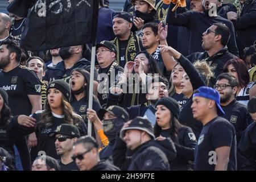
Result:
<svg viewBox="0 0 256 182"><path fill-rule="evenodd" d="M146 131L148 135L150 135L151 138L155 139L154 130L152 127L152 124L148 119L142 118L142 117L136 117L134 118L130 125L122 128L120 131L120 138L123 139L125 137L126 130L142 130Z"/></svg>

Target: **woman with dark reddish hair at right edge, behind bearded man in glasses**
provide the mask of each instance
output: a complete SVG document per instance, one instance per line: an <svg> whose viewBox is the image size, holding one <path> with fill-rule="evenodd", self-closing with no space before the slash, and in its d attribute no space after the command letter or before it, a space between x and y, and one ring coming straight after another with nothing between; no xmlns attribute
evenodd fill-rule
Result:
<svg viewBox="0 0 256 182"><path fill-rule="evenodd" d="M223 72L237 78L239 86L237 88L236 100L247 106L247 102L250 100L249 90L253 86L253 82L250 82L245 62L238 58L230 59L224 65Z"/></svg>

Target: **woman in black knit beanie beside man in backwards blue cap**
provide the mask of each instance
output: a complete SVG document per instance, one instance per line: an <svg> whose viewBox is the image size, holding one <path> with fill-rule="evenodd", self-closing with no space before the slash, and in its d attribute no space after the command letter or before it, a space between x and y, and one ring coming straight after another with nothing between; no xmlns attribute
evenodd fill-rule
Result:
<svg viewBox="0 0 256 182"><path fill-rule="evenodd" d="M171 138L175 143L177 156L172 162L171 170L189 170L189 161L194 160L196 136L192 129L180 124L180 108L177 101L170 97L161 98L156 102L155 137Z"/></svg>

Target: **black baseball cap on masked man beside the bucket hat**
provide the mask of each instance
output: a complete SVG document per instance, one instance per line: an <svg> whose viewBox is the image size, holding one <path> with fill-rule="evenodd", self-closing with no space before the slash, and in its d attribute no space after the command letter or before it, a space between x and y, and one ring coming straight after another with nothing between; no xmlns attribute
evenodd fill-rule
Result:
<svg viewBox="0 0 256 182"><path fill-rule="evenodd" d="M109 106L108 109L100 109L98 110L98 117L102 120L106 112L109 112L115 117L122 119L124 122L129 120L129 114L122 107L113 105Z"/></svg>

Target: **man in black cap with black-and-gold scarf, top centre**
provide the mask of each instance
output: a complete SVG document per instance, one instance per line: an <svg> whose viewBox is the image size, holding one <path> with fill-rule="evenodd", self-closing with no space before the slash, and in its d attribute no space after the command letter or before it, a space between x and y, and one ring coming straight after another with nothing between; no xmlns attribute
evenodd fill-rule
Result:
<svg viewBox="0 0 256 182"><path fill-rule="evenodd" d="M127 12L114 14L113 43L117 46L117 64L122 68L125 67L126 62L134 61L136 53L143 48L141 39L131 32L131 27L133 27L133 15Z"/></svg>

